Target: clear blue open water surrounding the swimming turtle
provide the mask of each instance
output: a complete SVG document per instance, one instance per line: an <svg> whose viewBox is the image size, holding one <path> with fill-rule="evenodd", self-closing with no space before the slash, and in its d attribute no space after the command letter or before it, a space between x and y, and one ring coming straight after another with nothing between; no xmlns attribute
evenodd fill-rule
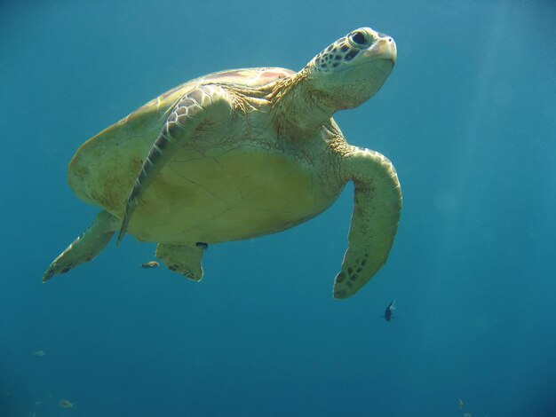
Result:
<svg viewBox="0 0 556 417"><path fill-rule="evenodd" d="M556 415L556 5L112 3L0 4L0 416ZM155 245L131 237L41 283L97 211L66 180L84 140L361 26L397 65L336 119L393 161L404 209L359 294L331 296L351 185L306 224L210 247L201 283L139 268Z"/></svg>

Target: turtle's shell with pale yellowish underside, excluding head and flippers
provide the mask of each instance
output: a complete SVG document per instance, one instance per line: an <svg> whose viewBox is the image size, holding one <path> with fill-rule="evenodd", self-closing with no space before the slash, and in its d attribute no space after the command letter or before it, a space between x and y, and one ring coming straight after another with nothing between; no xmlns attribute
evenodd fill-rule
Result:
<svg viewBox="0 0 556 417"><path fill-rule="evenodd" d="M69 164L69 185L81 200L122 218L147 153L187 92L207 83L260 91L293 74L274 67L237 69L179 85L85 142ZM277 146L267 106L251 103L249 94L245 101L257 111L204 123L191 146L156 175L128 232L166 243L242 240L279 232L330 207L341 190L325 192L323 172L311 158Z"/></svg>

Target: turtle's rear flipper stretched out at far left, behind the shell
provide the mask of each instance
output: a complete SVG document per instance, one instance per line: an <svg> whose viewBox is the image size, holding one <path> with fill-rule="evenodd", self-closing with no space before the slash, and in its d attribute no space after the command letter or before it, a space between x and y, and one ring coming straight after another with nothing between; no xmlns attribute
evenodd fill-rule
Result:
<svg viewBox="0 0 556 417"><path fill-rule="evenodd" d="M43 282L59 273L66 273L79 264L89 262L107 246L118 227L118 219L101 211L91 227L83 232L58 256L44 272Z"/></svg>

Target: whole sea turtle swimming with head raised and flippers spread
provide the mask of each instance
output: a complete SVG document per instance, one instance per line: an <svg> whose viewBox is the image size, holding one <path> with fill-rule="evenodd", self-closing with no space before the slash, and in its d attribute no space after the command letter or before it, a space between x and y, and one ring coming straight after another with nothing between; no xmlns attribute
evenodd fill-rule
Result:
<svg viewBox="0 0 556 417"><path fill-rule="evenodd" d="M68 182L100 207L44 272L91 261L119 230L157 242L171 271L203 277L208 244L280 232L317 216L354 184L349 248L334 297L357 292L385 264L401 212L395 169L350 146L331 118L380 89L396 59L392 37L359 28L298 73L235 69L149 101L81 146Z"/></svg>

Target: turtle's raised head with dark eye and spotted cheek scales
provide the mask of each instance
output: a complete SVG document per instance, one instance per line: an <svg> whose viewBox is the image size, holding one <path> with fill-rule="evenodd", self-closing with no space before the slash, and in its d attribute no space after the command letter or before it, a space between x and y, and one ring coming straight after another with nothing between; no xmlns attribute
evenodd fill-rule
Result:
<svg viewBox="0 0 556 417"><path fill-rule="evenodd" d="M360 106L392 72L396 43L371 28L359 28L332 43L304 71L315 94L334 110Z"/></svg>

